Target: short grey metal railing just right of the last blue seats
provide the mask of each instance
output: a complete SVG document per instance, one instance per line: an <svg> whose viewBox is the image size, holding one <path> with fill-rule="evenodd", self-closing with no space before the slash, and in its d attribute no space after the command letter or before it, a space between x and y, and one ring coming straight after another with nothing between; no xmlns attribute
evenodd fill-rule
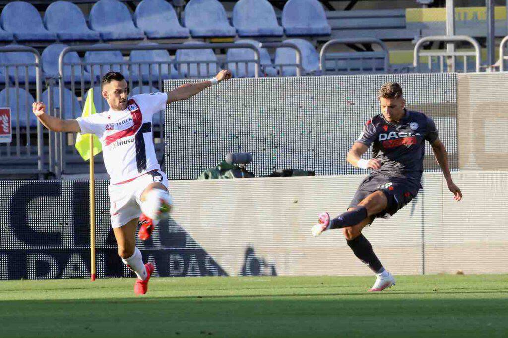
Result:
<svg viewBox="0 0 508 338"><path fill-rule="evenodd" d="M388 73L390 71L390 55L388 52L388 47L386 44L379 40L379 39L370 39L370 38L357 38L357 39L334 39L328 41L326 44L323 45L320 52L320 70L323 75L327 73L327 65L326 61L328 58L326 57L326 52L330 46L338 45L338 44L375 44L380 46L383 51L379 52L354 52L354 53L336 53L337 55L332 58L331 60L335 62L335 70L338 70L338 61L339 60L371 60L372 61L372 67L370 68L372 71L369 73L373 73L376 71L376 60L379 60L380 58L383 59L383 70L384 73ZM367 54L369 56L363 56L362 54ZM343 55L341 55L343 54ZM354 57L353 57L354 56ZM356 57L358 56L358 57ZM381 56L381 57L380 57ZM359 72L363 72L366 69L363 65L360 65ZM351 73L351 66L346 67L346 72Z"/></svg>

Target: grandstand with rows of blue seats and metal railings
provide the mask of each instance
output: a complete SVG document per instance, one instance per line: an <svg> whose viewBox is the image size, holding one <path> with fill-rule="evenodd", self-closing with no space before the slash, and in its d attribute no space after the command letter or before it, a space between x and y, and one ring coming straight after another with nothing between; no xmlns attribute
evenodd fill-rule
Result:
<svg viewBox="0 0 508 338"><path fill-rule="evenodd" d="M0 143L0 178L86 173L74 136L44 130L31 102L76 118L93 87L97 110L107 109L98 86L109 70L124 74L133 94L220 69L237 78L429 73L448 72L447 58L457 57L457 72L495 70L481 61L485 8L456 9L455 33L467 39L457 38L450 56L442 38L446 9L416 1L394 9L366 3L355 10L357 1L0 1L0 107L10 108L13 134L11 143ZM501 40L508 32L506 8L494 13ZM500 51L497 69L503 69ZM164 112L155 117L154 131L163 147ZM96 170L105 173L97 161Z"/></svg>

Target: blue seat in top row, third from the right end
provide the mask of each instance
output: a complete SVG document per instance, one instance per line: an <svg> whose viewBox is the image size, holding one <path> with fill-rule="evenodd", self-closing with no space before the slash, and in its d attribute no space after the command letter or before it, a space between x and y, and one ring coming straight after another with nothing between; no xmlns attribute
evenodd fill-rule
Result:
<svg viewBox="0 0 508 338"><path fill-rule="evenodd" d="M195 38L234 37L223 5L217 0L190 0L184 10L185 27Z"/></svg>

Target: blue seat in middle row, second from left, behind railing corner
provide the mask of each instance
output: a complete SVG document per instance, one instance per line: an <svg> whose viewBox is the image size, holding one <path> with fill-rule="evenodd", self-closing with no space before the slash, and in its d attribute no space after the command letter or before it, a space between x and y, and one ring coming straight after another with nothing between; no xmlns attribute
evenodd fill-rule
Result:
<svg viewBox="0 0 508 338"><path fill-rule="evenodd" d="M46 78L57 78L58 77L58 56L60 52L69 47L65 44L52 44L44 49L42 52L42 70L44 71L44 77ZM70 52L65 56L64 62L67 63L81 63L81 58L78 52ZM63 67L63 79L65 82L71 82L72 67L66 65ZM83 80L90 81L90 73L83 70ZM74 67L74 82L81 82L81 66Z"/></svg>

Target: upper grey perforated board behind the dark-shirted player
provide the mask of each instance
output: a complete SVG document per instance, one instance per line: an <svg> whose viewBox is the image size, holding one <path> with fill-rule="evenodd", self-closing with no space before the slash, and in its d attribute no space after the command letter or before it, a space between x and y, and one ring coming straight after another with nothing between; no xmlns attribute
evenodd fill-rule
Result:
<svg viewBox="0 0 508 338"><path fill-rule="evenodd" d="M251 152L249 171L267 176L300 169L316 175L365 173L345 160L364 123L379 114L377 89L397 81L406 106L432 117L457 157L456 74L233 79L166 110L165 165L170 180L196 179L228 152ZM171 90L187 81L166 81ZM427 145L427 154L432 151ZM427 171L438 171L428 156Z"/></svg>

